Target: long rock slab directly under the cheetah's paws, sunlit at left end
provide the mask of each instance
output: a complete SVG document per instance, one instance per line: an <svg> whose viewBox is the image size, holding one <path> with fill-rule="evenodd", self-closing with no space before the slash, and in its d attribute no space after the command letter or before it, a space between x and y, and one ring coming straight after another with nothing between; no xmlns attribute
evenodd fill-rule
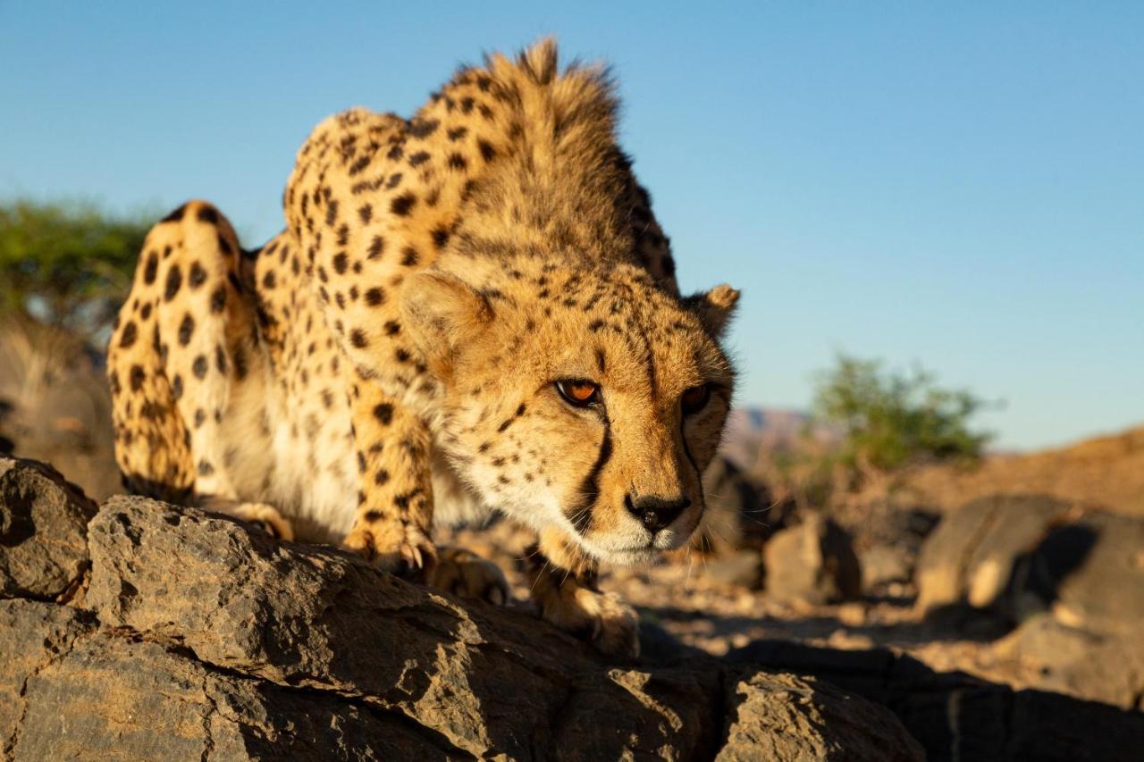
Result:
<svg viewBox="0 0 1144 762"><path fill-rule="evenodd" d="M607 669L530 614L462 606L229 518L113 498L90 543L86 601L104 625L177 642L219 669L404 715L451 753L527 757L564 747L569 723L606 717L623 732L597 733L585 759L659 747L690 756L717 725L696 670Z"/></svg>

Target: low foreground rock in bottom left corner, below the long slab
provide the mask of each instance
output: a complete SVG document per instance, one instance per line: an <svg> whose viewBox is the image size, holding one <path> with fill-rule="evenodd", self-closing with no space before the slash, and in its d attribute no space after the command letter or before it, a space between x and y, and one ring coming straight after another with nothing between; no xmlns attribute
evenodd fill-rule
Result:
<svg viewBox="0 0 1144 762"><path fill-rule="evenodd" d="M455 749L353 698L229 674L97 633L27 681L14 760L444 760Z"/></svg>

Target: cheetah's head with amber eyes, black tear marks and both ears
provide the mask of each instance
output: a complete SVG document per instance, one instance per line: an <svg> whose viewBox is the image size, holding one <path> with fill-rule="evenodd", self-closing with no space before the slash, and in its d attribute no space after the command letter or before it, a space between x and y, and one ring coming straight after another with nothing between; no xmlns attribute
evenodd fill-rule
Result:
<svg viewBox="0 0 1144 762"><path fill-rule="evenodd" d="M738 293L681 302L634 268L506 270L416 276L404 297L446 389L458 471L488 505L596 558L682 546L731 400L715 336Z"/></svg>

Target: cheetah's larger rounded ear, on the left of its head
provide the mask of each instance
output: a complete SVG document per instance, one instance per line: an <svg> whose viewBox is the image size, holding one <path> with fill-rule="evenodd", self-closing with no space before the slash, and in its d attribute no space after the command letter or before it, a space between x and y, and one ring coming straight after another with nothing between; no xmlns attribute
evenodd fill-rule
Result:
<svg viewBox="0 0 1144 762"><path fill-rule="evenodd" d="M453 354L493 318L492 304L456 276L419 272L402 288L403 323L434 370L447 371Z"/></svg>

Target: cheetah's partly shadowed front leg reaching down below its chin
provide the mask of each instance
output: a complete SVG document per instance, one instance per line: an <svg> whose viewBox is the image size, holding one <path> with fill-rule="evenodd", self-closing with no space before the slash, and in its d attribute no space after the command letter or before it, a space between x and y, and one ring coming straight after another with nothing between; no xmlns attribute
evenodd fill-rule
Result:
<svg viewBox="0 0 1144 762"><path fill-rule="evenodd" d="M532 600L545 619L591 641L610 656L639 656L639 619L635 610L614 593L599 592L596 562L561 532L541 532L525 564Z"/></svg>

